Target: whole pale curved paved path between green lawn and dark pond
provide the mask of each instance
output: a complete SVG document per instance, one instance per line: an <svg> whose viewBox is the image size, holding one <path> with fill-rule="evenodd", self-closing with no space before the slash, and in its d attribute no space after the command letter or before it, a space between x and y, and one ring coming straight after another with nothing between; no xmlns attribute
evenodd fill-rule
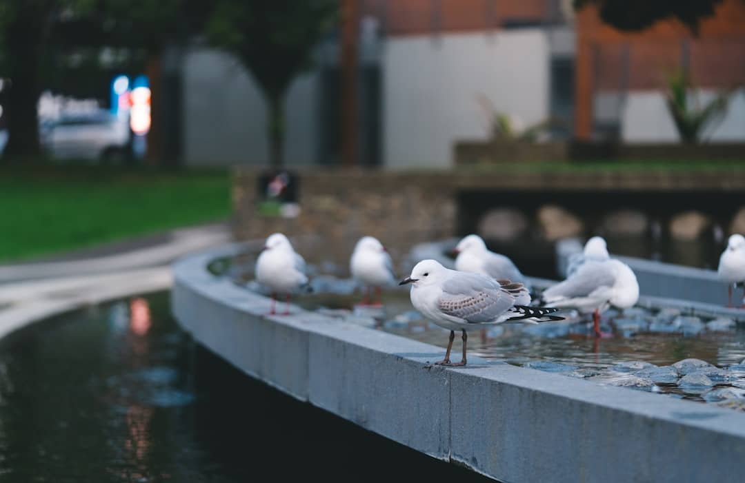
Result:
<svg viewBox="0 0 745 483"><path fill-rule="evenodd" d="M231 240L226 225L183 228L56 260L0 266L0 339L27 324L113 298L166 290L171 262Z"/></svg>

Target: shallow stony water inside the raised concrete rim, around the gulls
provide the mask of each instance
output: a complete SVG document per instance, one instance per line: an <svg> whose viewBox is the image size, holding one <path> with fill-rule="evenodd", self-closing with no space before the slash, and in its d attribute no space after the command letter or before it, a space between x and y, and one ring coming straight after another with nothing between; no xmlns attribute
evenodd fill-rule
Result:
<svg viewBox="0 0 745 483"><path fill-rule="evenodd" d="M232 278L247 290L265 290L251 280L250 255L235 262L222 258L212 263L215 275ZM311 267L312 268L312 267ZM379 307L361 306L364 296L355 282L334 275L311 278L313 292L297 295L294 302L305 310L319 310L349 323L384 330L446 348L448 331L426 321L413 310L408 287L384 292ZM378 301L377 298L374 301ZM281 311L282 304L278 310ZM603 314L601 330L612 336L595 339L589 316L561 313L562 322L509 324L471 333L469 354L495 362L507 362L557 372L595 383L631 387L690 400L705 401L717 389L732 389L735 401L728 407L745 412L745 326L686 316L678 310L645 310L633 307ZM722 323L724 322L724 326ZM727 323L729 322L729 327ZM717 327L717 324L719 327ZM459 360L460 336L455 338L451 359ZM700 359L712 365L704 386L691 386L681 371L670 366L684 359ZM662 369L653 374L614 367L624 362L645 362ZM717 372L722 368L725 373ZM640 370L643 368L640 368ZM671 371L670 374L661 374ZM684 384L685 383L685 384ZM736 394L735 394L736 393ZM742 397L739 397L742 396ZM709 397L711 399L711 397Z"/></svg>

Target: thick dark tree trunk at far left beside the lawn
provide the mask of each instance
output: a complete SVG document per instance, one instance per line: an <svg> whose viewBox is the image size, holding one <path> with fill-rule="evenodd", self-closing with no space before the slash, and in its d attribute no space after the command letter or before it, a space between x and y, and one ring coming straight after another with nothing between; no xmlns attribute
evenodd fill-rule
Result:
<svg viewBox="0 0 745 483"><path fill-rule="evenodd" d="M10 88L5 98L8 140L4 159L39 156L39 58L42 54L42 25L35 8L21 8L5 32Z"/></svg>

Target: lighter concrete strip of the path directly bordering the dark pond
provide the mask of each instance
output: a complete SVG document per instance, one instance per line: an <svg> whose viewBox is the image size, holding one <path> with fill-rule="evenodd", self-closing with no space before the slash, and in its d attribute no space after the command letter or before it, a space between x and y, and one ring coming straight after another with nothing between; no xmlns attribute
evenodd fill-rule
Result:
<svg viewBox="0 0 745 483"><path fill-rule="evenodd" d="M60 313L115 298L167 290L172 284L171 268L161 266L131 270L115 275L66 278L22 287L1 287L0 300L12 302L0 310L0 339L34 322ZM6 292L8 292L6 294ZM10 297L10 293L17 298Z"/></svg>

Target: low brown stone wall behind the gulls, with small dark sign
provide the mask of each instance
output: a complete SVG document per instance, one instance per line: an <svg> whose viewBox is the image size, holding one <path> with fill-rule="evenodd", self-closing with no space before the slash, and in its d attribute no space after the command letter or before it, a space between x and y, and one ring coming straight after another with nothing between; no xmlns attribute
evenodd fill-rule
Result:
<svg viewBox="0 0 745 483"><path fill-rule="evenodd" d="M281 231L299 239L308 260L334 260L346 266L356 241L378 237L400 260L414 243L455 233L455 185L441 174L367 171L299 173L300 214L295 218L257 213L259 173L235 173L233 205L239 240ZM308 237L308 235L317 235Z"/></svg>

